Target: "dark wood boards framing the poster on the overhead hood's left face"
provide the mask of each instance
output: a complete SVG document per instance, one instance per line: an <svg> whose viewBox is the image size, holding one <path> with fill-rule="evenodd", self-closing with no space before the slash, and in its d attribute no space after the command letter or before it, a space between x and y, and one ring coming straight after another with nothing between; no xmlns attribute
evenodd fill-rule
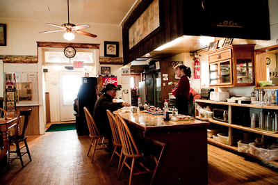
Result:
<svg viewBox="0 0 278 185"><path fill-rule="evenodd" d="M182 1L160 0L160 26L133 48L129 49L129 28L136 22L136 19L140 17L150 3L152 1L142 0L122 27L124 65L183 35Z"/></svg>

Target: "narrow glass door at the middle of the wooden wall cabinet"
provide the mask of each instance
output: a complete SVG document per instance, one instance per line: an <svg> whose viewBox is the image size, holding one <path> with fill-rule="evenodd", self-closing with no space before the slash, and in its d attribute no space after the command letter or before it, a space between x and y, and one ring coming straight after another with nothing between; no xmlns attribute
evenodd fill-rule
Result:
<svg viewBox="0 0 278 185"><path fill-rule="evenodd" d="M220 84L221 85L231 84L232 83L231 59L220 62L219 67L220 67Z"/></svg>

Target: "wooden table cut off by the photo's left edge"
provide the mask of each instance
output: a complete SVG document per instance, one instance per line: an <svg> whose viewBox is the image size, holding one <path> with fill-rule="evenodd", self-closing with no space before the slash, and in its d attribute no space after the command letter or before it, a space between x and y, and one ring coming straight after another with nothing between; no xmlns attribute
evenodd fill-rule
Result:
<svg viewBox="0 0 278 185"><path fill-rule="evenodd" d="M7 120L0 120L0 131L2 134L2 139L3 139L3 149L9 151L9 141L8 141L8 129L11 127L15 127L17 124L17 117L11 117L8 118ZM8 163L7 166L10 166L10 158L8 156Z"/></svg>

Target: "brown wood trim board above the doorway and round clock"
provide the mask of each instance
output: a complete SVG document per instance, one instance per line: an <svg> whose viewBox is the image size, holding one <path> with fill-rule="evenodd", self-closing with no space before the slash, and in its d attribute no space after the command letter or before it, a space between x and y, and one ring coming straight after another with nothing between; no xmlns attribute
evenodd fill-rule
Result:
<svg viewBox="0 0 278 185"><path fill-rule="evenodd" d="M37 42L38 47L56 47L56 48L65 48L65 47L74 47L74 48L84 48L84 49L99 49L100 44L81 44L81 43L72 43L72 42Z"/></svg>

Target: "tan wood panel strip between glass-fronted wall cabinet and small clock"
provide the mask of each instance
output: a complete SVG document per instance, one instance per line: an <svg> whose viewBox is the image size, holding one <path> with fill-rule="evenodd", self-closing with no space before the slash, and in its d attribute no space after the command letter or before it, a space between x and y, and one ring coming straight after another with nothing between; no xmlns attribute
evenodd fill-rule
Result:
<svg viewBox="0 0 278 185"><path fill-rule="evenodd" d="M265 63L265 52L264 51L255 51L255 86L259 87L259 81L266 80L266 63Z"/></svg>

